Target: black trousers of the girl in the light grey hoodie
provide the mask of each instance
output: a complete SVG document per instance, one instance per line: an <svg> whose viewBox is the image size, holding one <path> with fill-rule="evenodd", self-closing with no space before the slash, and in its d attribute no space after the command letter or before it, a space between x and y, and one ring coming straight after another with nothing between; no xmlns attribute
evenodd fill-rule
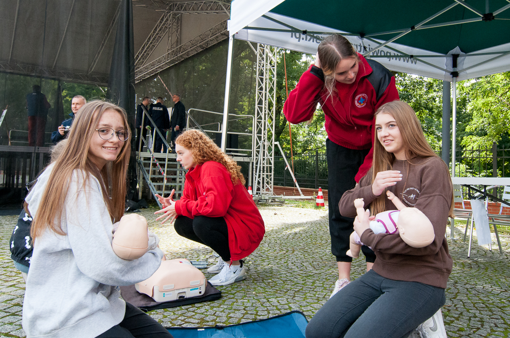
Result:
<svg viewBox="0 0 510 338"><path fill-rule="evenodd" d="M126 312L120 324L96 338L173 338L167 329L138 307L126 302Z"/></svg>

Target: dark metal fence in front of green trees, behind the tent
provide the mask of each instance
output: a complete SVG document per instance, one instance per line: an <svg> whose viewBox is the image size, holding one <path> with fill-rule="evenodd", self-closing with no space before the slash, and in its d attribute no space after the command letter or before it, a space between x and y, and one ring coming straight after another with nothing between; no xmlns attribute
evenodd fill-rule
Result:
<svg viewBox="0 0 510 338"><path fill-rule="evenodd" d="M435 152L441 156L441 149L435 149ZM290 154L286 154L286 157L292 166ZM455 161L455 176L510 177L510 149L498 148L495 142L489 149L457 149ZM294 175L302 188L327 189L326 153L312 151L294 155ZM274 156L274 185L294 186L292 177L285 170L282 156ZM499 194L502 189L499 188Z"/></svg>

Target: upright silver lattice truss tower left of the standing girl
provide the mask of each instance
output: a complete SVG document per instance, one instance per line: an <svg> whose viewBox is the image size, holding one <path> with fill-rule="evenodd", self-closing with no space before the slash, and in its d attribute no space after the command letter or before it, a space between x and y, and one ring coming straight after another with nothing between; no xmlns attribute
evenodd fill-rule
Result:
<svg viewBox="0 0 510 338"><path fill-rule="evenodd" d="M276 108L276 47L257 44L257 85L253 130L253 195L272 196L274 112Z"/></svg>

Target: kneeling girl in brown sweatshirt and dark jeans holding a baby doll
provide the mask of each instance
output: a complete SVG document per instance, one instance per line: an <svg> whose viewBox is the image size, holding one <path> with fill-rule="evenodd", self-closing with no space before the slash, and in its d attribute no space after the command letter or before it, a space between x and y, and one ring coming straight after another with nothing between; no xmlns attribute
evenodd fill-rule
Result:
<svg viewBox="0 0 510 338"><path fill-rule="evenodd" d="M440 308L452 269L444 236L453 210L448 168L430 149L416 113L407 103L382 105L375 114L375 129L372 167L342 196L341 214L355 217L354 200L359 198L372 215L395 210L386 196L386 191L391 191L429 218L435 239L426 247L414 248L398 234L374 234L368 211L363 219L356 217L354 231L372 247L377 259L372 270L324 304L308 324L307 338L400 338L417 327L431 337L446 337Z"/></svg>

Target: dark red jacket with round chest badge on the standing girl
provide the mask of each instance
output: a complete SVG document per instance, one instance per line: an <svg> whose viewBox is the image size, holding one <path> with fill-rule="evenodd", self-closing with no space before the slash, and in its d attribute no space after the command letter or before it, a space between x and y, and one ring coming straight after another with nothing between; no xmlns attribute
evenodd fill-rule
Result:
<svg viewBox="0 0 510 338"><path fill-rule="evenodd" d="M372 73L372 68L363 55L358 53L358 57L360 66L355 82L350 85L337 82L336 97L327 97L327 91L323 90L324 81L311 72L310 66L301 75L296 88L290 92L284 105L287 120L297 124L310 120L317 103L320 102L325 114L327 137L331 141L348 149L370 149L355 176L356 182L359 182L372 166L375 111L386 102L398 100L394 76L391 77L384 94L377 100L375 89L366 78Z"/></svg>

